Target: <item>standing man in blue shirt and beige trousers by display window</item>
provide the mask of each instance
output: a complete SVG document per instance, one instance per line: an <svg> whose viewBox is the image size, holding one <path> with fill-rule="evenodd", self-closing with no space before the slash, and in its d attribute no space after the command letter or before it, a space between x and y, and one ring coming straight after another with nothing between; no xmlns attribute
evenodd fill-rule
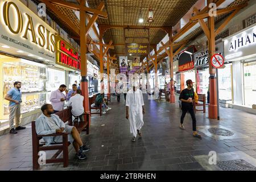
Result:
<svg viewBox="0 0 256 182"><path fill-rule="evenodd" d="M20 91L21 82L15 81L14 88L10 89L5 96L5 100L9 102L9 123L10 123L10 133L16 134L16 130L24 130L26 127L19 126L20 122L20 103L22 102L22 93ZM14 129L14 118L15 118L15 129Z"/></svg>

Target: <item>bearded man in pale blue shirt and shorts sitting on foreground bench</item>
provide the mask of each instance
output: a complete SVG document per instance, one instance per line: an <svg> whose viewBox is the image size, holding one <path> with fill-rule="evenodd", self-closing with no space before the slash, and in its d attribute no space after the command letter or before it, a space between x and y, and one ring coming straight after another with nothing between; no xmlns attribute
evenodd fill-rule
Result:
<svg viewBox="0 0 256 182"><path fill-rule="evenodd" d="M89 151L90 148L84 146L80 138L79 132L76 127L65 125L63 121L54 113L51 104L45 104L41 107L43 114L40 115L35 121L36 133L38 135L48 135L53 133L68 133L68 142L73 142L73 146L76 150L76 156L79 159L86 159L86 155L82 152ZM51 143L62 142L62 136L57 137L43 137L46 142L46 146Z"/></svg>

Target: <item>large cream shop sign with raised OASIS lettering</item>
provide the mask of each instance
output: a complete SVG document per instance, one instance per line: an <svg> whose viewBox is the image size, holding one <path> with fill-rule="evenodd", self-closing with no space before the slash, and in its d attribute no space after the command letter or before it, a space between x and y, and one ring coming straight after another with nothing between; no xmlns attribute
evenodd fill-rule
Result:
<svg viewBox="0 0 256 182"><path fill-rule="evenodd" d="M22 2L1 0L0 24L0 43L55 60L56 31Z"/></svg>

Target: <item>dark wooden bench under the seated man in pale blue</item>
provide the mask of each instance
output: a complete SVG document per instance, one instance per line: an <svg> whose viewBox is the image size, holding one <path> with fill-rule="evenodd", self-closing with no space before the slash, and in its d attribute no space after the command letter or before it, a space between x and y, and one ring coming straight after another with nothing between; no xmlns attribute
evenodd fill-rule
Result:
<svg viewBox="0 0 256 182"><path fill-rule="evenodd" d="M69 126L75 126L77 131L81 133L81 131L86 131L86 134L89 134L89 113L84 114L84 122L72 122L72 113L71 109L64 109L56 113L60 117L60 119L65 123L68 122ZM46 163L61 163L63 162L63 167L68 166L68 133L55 133L49 135L38 135L36 134L35 121L31 123L32 127L32 163L33 169L39 169L40 165L38 163L39 159L39 151L51 151L57 150L57 152L52 156L51 159L46 159ZM51 143L50 146L45 146L46 142L40 142L43 137L55 137L62 136L63 142L61 143ZM57 158L61 152L63 152L63 158Z"/></svg>

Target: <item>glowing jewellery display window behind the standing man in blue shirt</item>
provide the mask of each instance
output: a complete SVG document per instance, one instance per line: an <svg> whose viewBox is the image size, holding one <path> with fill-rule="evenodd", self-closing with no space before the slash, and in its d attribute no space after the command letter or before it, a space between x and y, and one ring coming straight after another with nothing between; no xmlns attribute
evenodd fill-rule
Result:
<svg viewBox="0 0 256 182"><path fill-rule="evenodd" d="M4 100L4 97L14 87L15 81L22 82L22 114L39 109L45 103L46 68L44 65L40 65L24 59L1 56L0 67L3 71L1 73L0 92L3 94L0 98L0 119L9 117L9 101Z"/></svg>

